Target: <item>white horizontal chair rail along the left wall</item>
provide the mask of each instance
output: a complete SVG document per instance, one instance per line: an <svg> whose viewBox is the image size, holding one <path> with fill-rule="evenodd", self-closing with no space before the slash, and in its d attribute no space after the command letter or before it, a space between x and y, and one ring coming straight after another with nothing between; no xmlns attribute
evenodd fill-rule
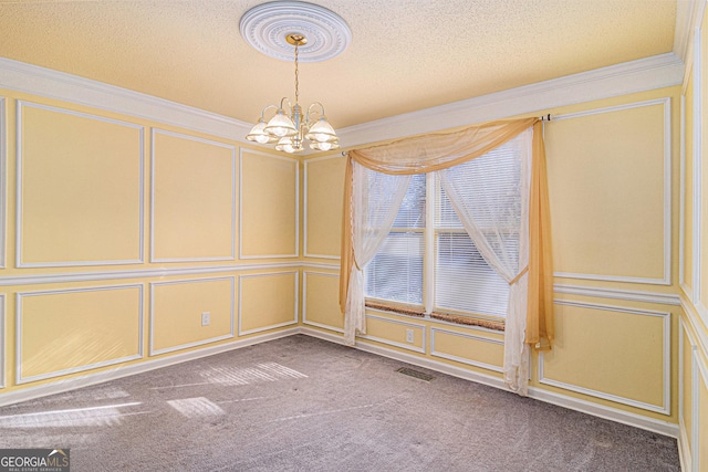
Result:
<svg viewBox="0 0 708 472"><path fill-rule="evenodd" d="M100 271L100 272L71 272L56 274L38 274L38 275L15 275L0 277L0 286L12 285L41 285L46 283L66 283L66 282L96 282L119 279L145 279L145 277L168 277L175 275L198 275L221 272L239 272L252 270L271 270L271 269L295 269L300 268L299 262L274 262L274 263L252 263L252 264L229 264L229 265L209 265L195 268L160 268L160 269L139 269L136 271ZM329 268L323 268L329 269ZM339 270L339 265L336 268Z"/></svg>

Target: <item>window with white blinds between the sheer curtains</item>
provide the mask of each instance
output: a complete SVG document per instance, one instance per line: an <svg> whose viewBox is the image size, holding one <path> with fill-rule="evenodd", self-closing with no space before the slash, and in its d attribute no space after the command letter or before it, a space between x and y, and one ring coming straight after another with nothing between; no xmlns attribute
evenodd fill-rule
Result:
<svg viewBox="0 0 708 472"><path fill-rule="evenodd" d="M514 227L521 218L518 148L518 139L512 139L452 168L462 182L467 206L475 207L475 199L493 202L494 214L486 212L486 204L479 206L475 221L496 239L516 241L516 253L512 250L507 256L517 260L518 234L503 221L512 219ZM480 255L433 172L413 176L393 229L365 269L365 294L378 303L426 313L503 317L509 284Z"/></svg>

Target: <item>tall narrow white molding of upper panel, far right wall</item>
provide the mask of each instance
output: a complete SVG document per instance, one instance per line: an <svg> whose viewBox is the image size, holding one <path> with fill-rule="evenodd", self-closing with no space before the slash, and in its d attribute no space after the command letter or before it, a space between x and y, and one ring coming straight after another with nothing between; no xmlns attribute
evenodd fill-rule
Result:
<svg viewBox="0 0 708 472"><path fill-rule="evenodd" d="M694 35L694 156L693 156L693 177L694 177L694 234L693 234L693 274L691 274L691 301L697 306L700 305L700 270L701 270L701 208L702 208L702 190L701 190L701 159L702 159L702 60L701 60L701 30L696 28ZM708 294L707 294L708 296ZM699 314L704 318L704 323L708 324L708 314L706 311ZM705 315L705 316L704 316Z"/></svg>

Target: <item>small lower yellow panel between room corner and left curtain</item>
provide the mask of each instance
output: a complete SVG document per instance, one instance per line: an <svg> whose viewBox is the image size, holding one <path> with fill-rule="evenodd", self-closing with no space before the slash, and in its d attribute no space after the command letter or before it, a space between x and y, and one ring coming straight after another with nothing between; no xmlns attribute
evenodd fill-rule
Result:
<svg viewBox="0 0 708 472"><path fill-rule="evenodd" d="M303 271L302 292L303 324L344 333L339 274Z"/></svg>

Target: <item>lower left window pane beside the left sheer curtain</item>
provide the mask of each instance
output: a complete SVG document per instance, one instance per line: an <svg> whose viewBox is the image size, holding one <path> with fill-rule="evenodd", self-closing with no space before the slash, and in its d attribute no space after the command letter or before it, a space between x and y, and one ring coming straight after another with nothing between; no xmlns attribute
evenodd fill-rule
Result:
<svg viewBox="0 0 708 472"><path fill-rule="evenodd" d="M366 296L423 304L424 234L392 232L366 265Z"/></svg>

